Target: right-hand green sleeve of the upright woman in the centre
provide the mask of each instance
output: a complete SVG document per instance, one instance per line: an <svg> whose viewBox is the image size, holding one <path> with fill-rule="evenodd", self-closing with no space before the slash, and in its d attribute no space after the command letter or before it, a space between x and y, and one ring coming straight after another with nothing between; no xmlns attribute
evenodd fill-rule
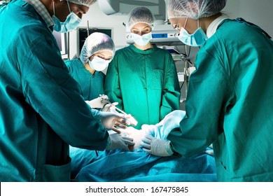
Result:
<svg viewBox="0 0 273 196"><path fill-rule="evenodd" d="M162 89L162 105L160 106L160 120L165 118L168 113L178 110L180 104L179 78L171 55L169 55L166 66Z"/></svg>

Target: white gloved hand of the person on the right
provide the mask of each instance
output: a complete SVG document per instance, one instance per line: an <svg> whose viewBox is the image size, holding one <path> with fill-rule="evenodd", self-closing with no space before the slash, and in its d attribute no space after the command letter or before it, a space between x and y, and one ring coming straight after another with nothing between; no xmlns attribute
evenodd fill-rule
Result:
<svg viewBox="0 0 273 196"><path fill-rule="evenodd" d="M146 135L146 137L142 139L141 146L144 147L143 150L147 153L159 157L167 157L174 153L170 141L165 139L155 139L155 137L152 137L151 135Z"/></svg>

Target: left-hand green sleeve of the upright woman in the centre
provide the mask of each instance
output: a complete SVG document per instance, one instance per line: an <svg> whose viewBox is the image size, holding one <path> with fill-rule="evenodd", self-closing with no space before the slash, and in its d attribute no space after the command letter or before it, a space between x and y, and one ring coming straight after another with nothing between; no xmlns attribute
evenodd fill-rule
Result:
<svg viewBox="0 0 273 196"><path fill-rule="evenodd" d="M117 107L123 110L123 99L120 90L120 79L118 76L118 58L115 55L113 60L109 63L104 90L111 102L118 102Z"/></svg>

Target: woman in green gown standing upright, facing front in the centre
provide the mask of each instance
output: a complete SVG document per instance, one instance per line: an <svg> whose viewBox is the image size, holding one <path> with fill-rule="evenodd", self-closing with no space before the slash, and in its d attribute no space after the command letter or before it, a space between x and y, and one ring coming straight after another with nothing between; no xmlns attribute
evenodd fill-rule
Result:
<svg viewBox="0 0 273 196"><path fill-rule="evenodd" d="M134 8L127 18L133 44L116 51L106 73L105 91L112 102L143 124L159 123L179 109L180 89L172 55L152 45L155 18L145 7Z"/></svg>

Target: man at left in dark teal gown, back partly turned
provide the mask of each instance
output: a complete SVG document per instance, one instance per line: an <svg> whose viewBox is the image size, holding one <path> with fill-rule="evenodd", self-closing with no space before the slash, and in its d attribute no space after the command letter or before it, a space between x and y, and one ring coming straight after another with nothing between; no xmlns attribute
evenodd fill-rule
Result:
<svg viewBox="0 0 273 196"><path fill-rule="evenodd" d="M0 8L0 181L70 181L69 144L134 144L102 126L119 116L93 116L52 36L53 28L75 29L92 3L13 0Z"/></svg>

